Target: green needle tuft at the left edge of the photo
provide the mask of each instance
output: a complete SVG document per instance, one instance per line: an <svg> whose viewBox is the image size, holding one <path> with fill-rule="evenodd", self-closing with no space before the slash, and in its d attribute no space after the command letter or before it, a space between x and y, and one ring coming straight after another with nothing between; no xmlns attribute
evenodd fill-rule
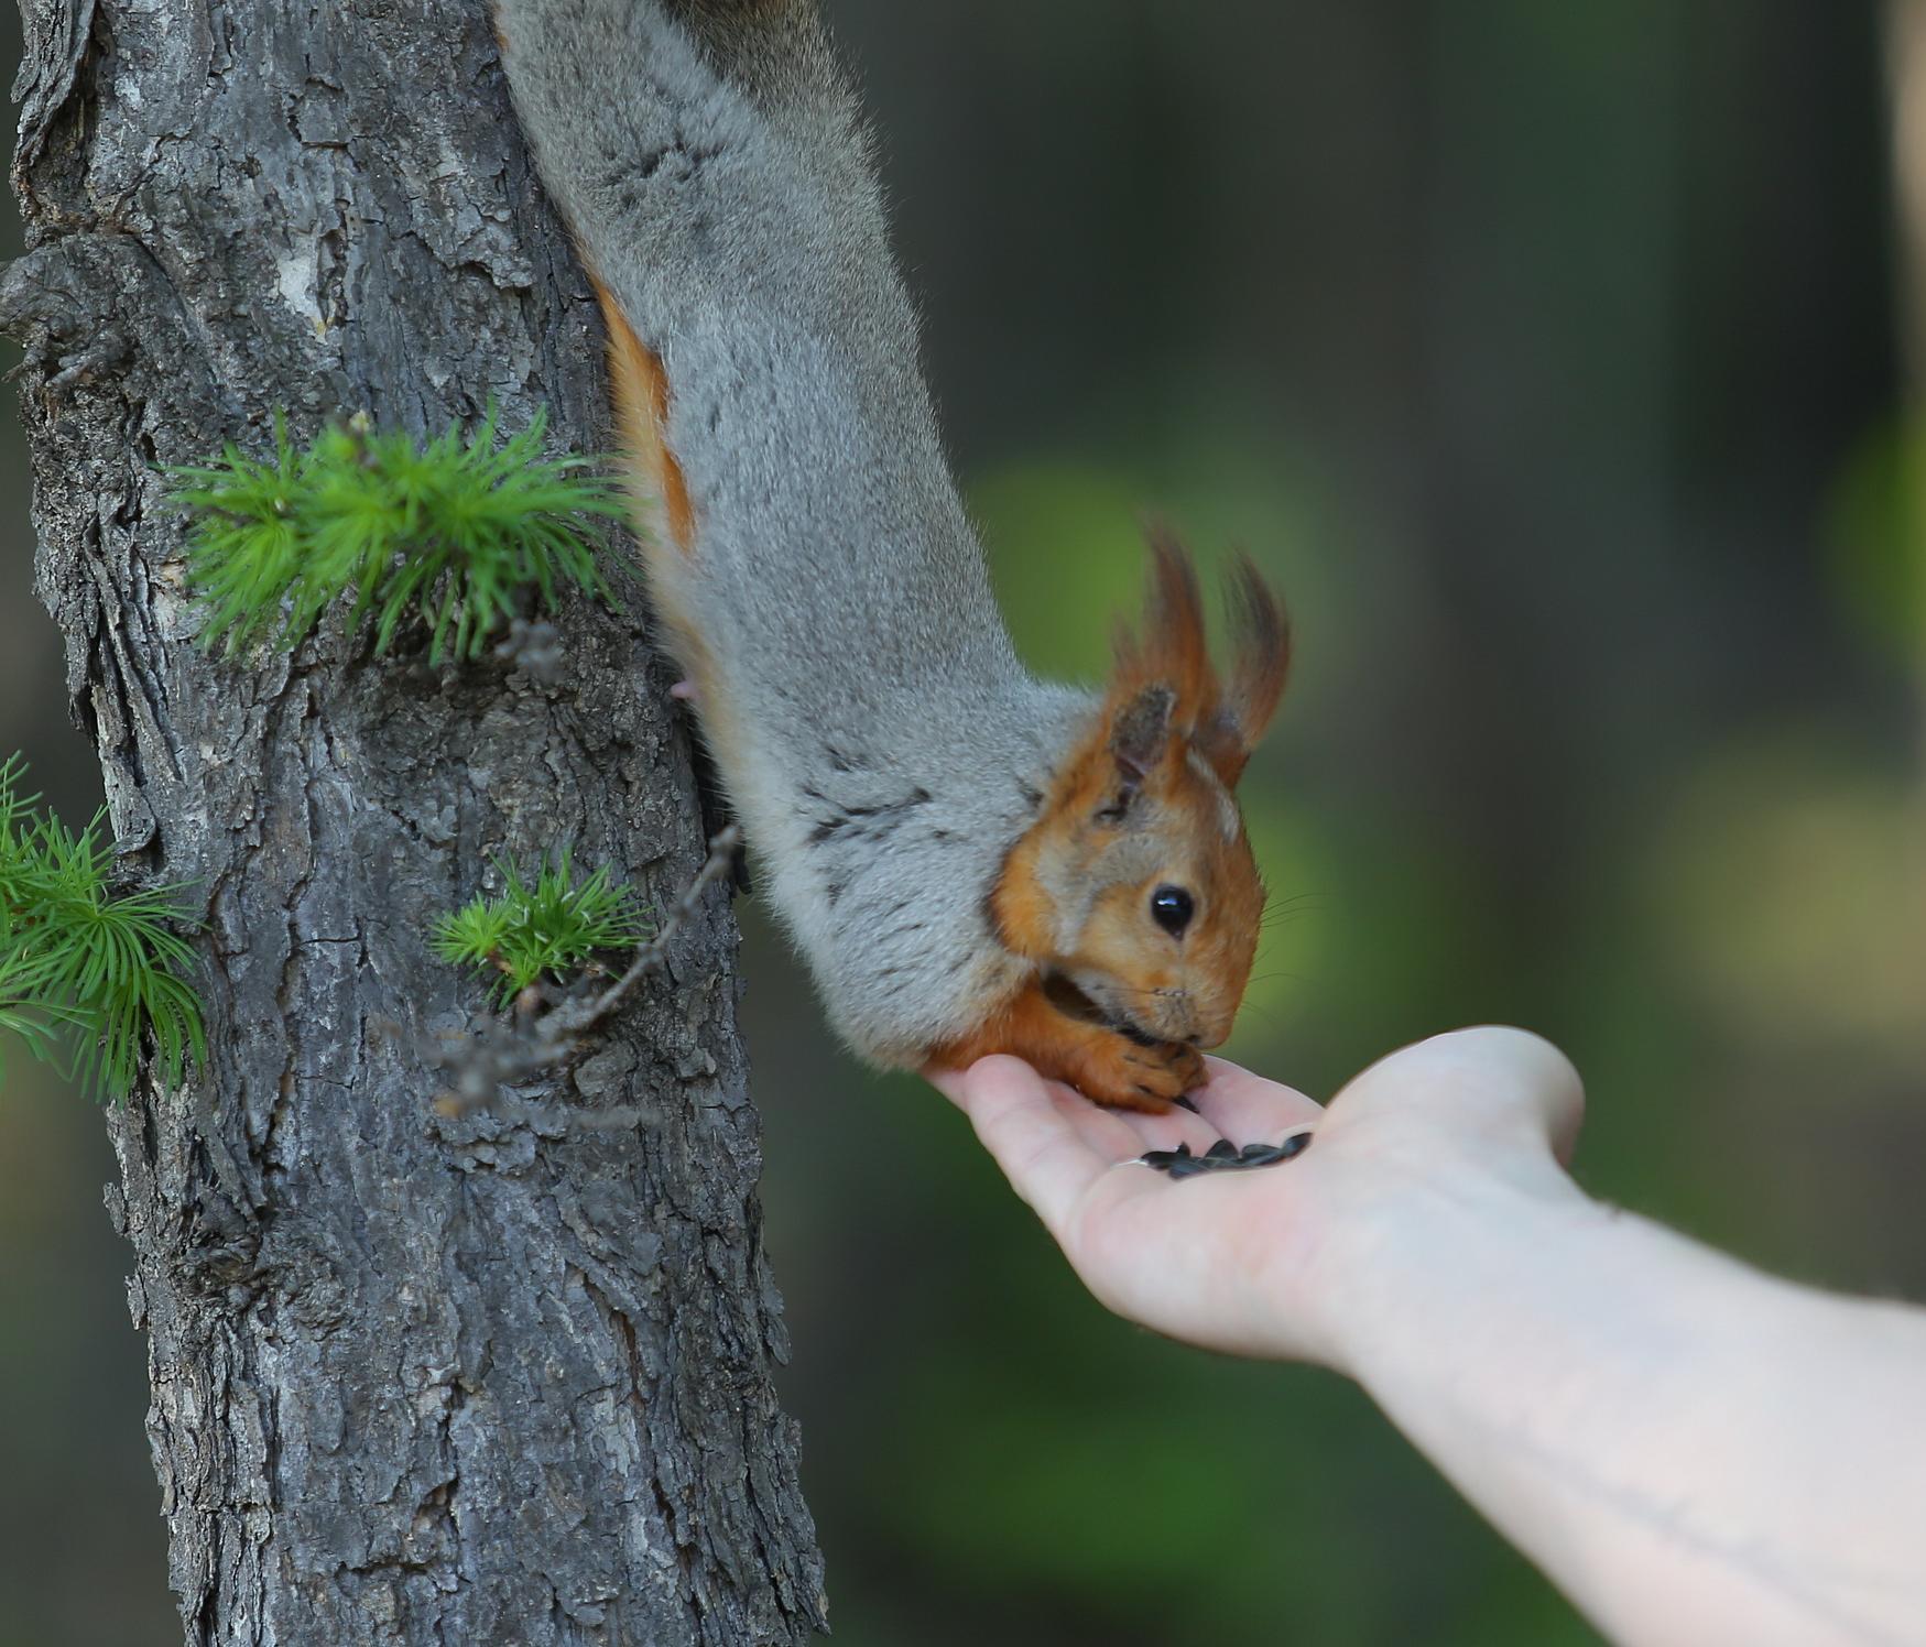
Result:
<svg viewBox="0 0 1926 1647"><path fill-rule="evenodd" d="M116 1100L152 1036L162 1079L179 1085L189 1058L206 1061L179 888L110 892L106 811L69 830L21 792L25 774L19 755L0 761L0 1029Z"/></svg>

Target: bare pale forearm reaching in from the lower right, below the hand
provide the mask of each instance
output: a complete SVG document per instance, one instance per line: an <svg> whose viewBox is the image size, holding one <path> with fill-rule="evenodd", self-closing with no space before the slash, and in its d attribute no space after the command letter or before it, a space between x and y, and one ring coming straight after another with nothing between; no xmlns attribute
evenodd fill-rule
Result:
<svg viewBox="0 0 1926 1647"><path fill-rule="evenodd" d="M1616 1639L1926 1641L1926 1314L1758 1275L1549 1162L1473 1175L1350 1248L1339 1343L1392 1422Z"/></svg>

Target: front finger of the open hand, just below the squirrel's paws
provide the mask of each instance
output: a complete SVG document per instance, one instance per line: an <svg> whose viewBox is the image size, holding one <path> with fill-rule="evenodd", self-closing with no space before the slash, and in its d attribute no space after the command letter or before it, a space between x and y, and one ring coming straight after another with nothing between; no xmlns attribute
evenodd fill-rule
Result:
<svg viewBox="0 0 1926 1647"><path fill-rule="evenodd" d="M1138 1148L1136 1135L1021 1058L984 1058L930 1079L969 1115L984 1148L1052 1235L1104 1173Z"/></svg>

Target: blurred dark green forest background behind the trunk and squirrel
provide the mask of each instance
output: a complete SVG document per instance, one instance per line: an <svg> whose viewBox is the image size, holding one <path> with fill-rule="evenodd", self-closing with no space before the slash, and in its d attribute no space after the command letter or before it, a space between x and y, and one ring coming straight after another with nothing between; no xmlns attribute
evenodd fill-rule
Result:
<svg viewBox="0 0 1926 1647"><path fill-rule="evenodd" d="M1027 655L1102 670L1146 507L1292 601L1246 778L1288 915L1233 1056L1329 1094L1531 1025L1587 1075L1597 1194L1926 1298L1926 443L1878 8L830 10ZM81 821L6 401L0 751ZM743 919L838 1641L1595 1639L1348 1387L1106 1318ZM177 1639L110 1175L12 1056L6 1643Z"/></svg>

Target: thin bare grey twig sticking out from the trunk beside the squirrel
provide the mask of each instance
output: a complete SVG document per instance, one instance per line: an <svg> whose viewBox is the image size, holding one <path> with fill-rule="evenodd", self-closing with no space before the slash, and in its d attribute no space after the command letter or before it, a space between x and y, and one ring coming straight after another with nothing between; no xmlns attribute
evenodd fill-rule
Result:
<svg viewBox="0 0 1926 1647"><path fill-rule="evenodd" d="M489 1019L482 1031L443 1036L429 1054L435 1063L453 1073L449 1090L435 1098L441 1115L466 1115L474 1110L503 1104L503 1088L528 1081L576 1050L584 1033L601 1023L626 1002L645 977L668 963L668 946L695 915L703 894L722 880L742 846L742 828L730 824L709 842L709 857L695 878L676 900L657 934L636 950L636 959L609 988L595 996L576 996L535 1015L547 994L541 986L522 990L514 1004L514 1019ZM518 1110L526 1110L514 1100ZM628 1113L628 1111L624 1111Z"/></svg>

